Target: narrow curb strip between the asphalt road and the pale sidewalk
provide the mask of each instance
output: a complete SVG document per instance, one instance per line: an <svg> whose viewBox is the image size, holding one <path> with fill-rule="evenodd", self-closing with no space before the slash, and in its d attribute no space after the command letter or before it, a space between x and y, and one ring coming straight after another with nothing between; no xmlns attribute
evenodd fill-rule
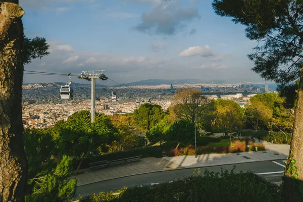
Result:
<svg viewBox="0 0 303 202"><path fill-rule="evenodd" d="M86 185L89 185L89 184L94 184L94 183L99 183L99 182L104 182L104 181L109 181L109 180L114 180L114 179L119 179L119 178L124 178L124 177L144 175L144 174L149 174L149 173L160 173L160 172L167 172L167 171L172 171L172 170L184 170L184 169L190 169L190 168L204 168L204 167L226 166L226 165L233 165L233 164L246 164L246 163L254 163L254 162L279 161L279 160L284 160L284 159L257 160L257 161L249 161L249 162L233 162L233 163L212 165L212 166L188 166L188 167L168 169L168 170L149 171L149 172L145 172L145 173L136 173L136 174L131 174L131 175L124 175L124 176L121 176L121 177L115 177L115 178L111 178L111 179L100 180L100 181L97 181L97 182L90 182L90 183L86 183L86 184L81 184L77 187L86 186Z"/></svg>

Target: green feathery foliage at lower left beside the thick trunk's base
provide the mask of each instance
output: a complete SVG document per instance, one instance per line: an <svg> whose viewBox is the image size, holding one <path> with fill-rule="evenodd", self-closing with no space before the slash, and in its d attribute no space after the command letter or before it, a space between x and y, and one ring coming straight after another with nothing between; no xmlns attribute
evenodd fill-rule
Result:
<svg viewBox="0 0 303 202"><path fill-rule="evenodd" d="M55 156L51 134L37 129L24 130L24 148L28 159L28 186L25 201L65 201L76 189L70 157Z"/></svg>

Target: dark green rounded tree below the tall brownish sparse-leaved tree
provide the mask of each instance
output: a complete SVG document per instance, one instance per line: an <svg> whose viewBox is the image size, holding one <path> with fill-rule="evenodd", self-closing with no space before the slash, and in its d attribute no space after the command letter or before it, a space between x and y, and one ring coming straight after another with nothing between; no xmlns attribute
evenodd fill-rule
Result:
<svg viewBox="0 0 303 202"><path fill-rule="evenodd" d="M196 133L198 134L198 132ZM198 135L197 135L198 136ZM194 124L187 120L173 123L165 134L169 141L188 142L194 139Z"/></svg>

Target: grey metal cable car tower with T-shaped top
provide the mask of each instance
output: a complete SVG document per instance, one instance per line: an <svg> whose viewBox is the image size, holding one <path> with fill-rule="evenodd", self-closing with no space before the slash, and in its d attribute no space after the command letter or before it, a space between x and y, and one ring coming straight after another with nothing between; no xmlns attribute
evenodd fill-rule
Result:
<svg viewBox="0 0 303 202"><path fill-rule="evenodd" d="M108 77L106 77L103 72L105 70L95 70L95 71L82 71L81 75L78 76L79 79L86 79L91 81L91 108L90 108L90 121L93 123L94 115L95 115L95 87L96 87L96 79L102 79L106 81Z"/></svg>

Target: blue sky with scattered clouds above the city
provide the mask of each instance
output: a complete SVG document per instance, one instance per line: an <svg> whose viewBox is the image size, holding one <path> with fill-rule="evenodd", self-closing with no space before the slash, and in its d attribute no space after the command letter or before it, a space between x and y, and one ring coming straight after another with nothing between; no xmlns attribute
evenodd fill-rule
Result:
<svg viewBox="0 0 303 202"><path fill-rule="evenodd" d="M49 54L25 70L80 74L105 70L115 82L146 79L264 81L247 54L245 27L215 14L210 0L20 0L27 37L44 37ZM25 74L24 83L67 82ZM88 83L72 77L76 83ZM97 80L103 85L112 81Z"/></svg>

